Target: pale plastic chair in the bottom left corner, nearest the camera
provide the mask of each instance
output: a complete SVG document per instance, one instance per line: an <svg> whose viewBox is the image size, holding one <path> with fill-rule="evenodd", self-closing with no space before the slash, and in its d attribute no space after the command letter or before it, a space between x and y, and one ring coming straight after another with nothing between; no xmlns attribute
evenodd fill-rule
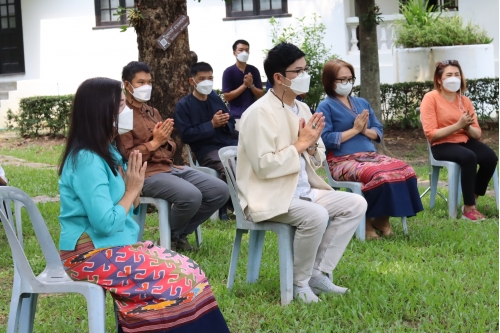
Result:
<svg viewBox="0 0 500 333"><path fill-rule="evenodd" d="M14 215L11 211L12 203L14 204ZM47 263L43 272L38 276L33 273L24 253L22 207L29 215L29 220L33 225L33 230ZM15 187L0 187L0 219L14 259L14 283L7 333L33 332L38 294L53 293L79 293L85 296L89 332L104 333L106 304L103 288L88 282L76 282L68 277L45 221L33 200ZM72 332L77 331L77 329L67 327L67 331Z"/></svg>

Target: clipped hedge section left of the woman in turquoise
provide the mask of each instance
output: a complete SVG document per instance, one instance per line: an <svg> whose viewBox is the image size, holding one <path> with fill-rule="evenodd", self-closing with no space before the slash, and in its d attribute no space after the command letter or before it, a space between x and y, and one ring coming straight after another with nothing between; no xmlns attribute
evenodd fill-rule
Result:
<svg viewBox="0 0 500 333"><path fill-rule="evenodd" d="M35 96L22 98L19 112L7 111L7 128L16 128L21 136L39 136L48 131L51 136L66 133L73 95Z"/></svg>

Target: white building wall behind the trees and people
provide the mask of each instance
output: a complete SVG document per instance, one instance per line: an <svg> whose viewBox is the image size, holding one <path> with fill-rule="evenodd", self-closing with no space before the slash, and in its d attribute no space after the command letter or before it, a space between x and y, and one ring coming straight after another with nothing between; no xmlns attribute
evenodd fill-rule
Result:
<svg viewBox="0 0 500 333"><path fill-rule="evenodd" d="M484 2L484 3L483 3ZM397 13L397 0L378 0L384 15ZM83 80L106 76L119 80L122 67L137 60L137 37L132 28L94 29L94 1L22 0L22 19L26 73L1 76L1 82L17 82L17 90L9 92L9 100L0 101L0 128L5 113L18 109L19 99L36 95L62 95L76 91ZM214 87L222 88L222 73L234 64L232 44L237 39L250 43L249 63L266 80L264 50L272 47L269 19L223 21L225 2L221 0L187 1L190 17L191 50L214 68ZM487 29L494 38L495 73L498 76L498 0L460 0L459 14ZM351 62L359 83L359 53L349 52L350 32L346 18L354 16L354 0L288 0L291 17L278 18L282 27L295 24L297 18L316 13L326 25L324 43L331 52ZM493 13L493 14L492 14ZM390 36L387 36L390 38ZM392 50L379 52L381 82L394 81Z"/></svg>

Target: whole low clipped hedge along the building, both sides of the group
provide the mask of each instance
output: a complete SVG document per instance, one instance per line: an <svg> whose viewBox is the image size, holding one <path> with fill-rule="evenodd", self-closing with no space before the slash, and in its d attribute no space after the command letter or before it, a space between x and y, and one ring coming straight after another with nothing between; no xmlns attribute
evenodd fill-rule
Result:
<svg viewBox="0 0 500 333"><path fill-rule="evenodd" d="M465 96L474 105L479 121L498 123L499 79L467 80ZM404 82L381 84L382 122L386 126L401 128L420 127L420 115L416 108L424 95L433 89L433 82ZM221 96L222 92L216 90ZM359 86L353 94L359 95ZM39 136L44 132L49 135L65 135L69 125L73 95L36 96L21 99L19 112L7 111L7 128L16 128L21 136Z"/></svg>

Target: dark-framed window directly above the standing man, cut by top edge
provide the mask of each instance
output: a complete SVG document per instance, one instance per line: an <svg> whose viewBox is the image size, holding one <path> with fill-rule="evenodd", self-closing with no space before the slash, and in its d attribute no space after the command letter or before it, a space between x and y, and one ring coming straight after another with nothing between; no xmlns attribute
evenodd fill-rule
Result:
<svg viewBox="0 0 500 333"><path fill-rule="evenodd" d="M228 0L224 20L292 16L287 0Z"/></svg>

